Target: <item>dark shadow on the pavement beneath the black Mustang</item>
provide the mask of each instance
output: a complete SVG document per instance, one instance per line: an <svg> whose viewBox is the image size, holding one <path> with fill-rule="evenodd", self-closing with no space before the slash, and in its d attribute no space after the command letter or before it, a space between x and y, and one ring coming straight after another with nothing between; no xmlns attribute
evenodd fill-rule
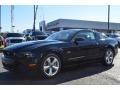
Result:
<svg viewBox="0 0 120 90"><path fill-rule="evenodd" d="M114 65L113 65L114 66ZM0 85L56 85L72 80L89 77L111 69L113 66L105 67L102 64L85 64L65 67L59 75L52 79L42 79L39 76L27 77L26 75L15 75L11 72L0 73Z"/></svg>

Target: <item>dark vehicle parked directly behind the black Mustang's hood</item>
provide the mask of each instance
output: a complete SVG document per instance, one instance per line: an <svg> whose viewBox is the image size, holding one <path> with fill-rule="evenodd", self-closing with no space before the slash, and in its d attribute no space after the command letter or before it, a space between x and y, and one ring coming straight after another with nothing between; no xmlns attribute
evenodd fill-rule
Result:
<svg viewBox="0 0 120 90"><path fill-rule="evenodd" d="M41 31L32 31L28 36L28 40L43 40L45 38L47 38L47 34Z"/></svg>

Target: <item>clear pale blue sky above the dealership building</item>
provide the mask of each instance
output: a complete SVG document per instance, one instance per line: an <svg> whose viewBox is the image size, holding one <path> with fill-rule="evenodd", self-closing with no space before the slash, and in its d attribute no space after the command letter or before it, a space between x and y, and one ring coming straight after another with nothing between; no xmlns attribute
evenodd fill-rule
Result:
<svg viewBox="0 0 120 90"><path fill-rule="evenodd" d="M11 31L10 7L10 5L2 5L1 8L2 32ZM39 28L39 22L42 20L48 23L60 18L107 22L107 10L107 5L40 5L36 28ZM120 23L120 6L110 6L110 22ZM33 5L15 5L14 26L15 32L33 27Z"/></svg>

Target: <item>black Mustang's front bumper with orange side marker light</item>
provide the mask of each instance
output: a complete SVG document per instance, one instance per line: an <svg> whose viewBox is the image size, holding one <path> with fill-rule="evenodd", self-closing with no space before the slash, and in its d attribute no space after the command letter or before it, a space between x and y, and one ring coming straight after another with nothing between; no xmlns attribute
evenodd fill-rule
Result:
<svg viewBox="0 0 120 90"><path fill-rule="evenodd" d="M12 58L6 58L2 56L3 67L9 71L18 70L18 71L29 71L35 70L38 67L37 63L26 62L26 60L18 60Z"/></svg>

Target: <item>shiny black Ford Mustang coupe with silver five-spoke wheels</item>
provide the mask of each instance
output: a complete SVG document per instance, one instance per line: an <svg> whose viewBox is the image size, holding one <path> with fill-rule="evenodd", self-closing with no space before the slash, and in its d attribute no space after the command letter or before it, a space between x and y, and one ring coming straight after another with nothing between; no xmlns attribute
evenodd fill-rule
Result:
<svg viewBox="0 0 120 90"><path fill-rule="evenodd" d="M4 68L37 70L43 77L56 76L69 62L92 62L112 65L118 52L118 43L96 31L64 30L45 40L28 41L6 47L3 50ZM98 59L100 58L100 59Z"/></svg>

